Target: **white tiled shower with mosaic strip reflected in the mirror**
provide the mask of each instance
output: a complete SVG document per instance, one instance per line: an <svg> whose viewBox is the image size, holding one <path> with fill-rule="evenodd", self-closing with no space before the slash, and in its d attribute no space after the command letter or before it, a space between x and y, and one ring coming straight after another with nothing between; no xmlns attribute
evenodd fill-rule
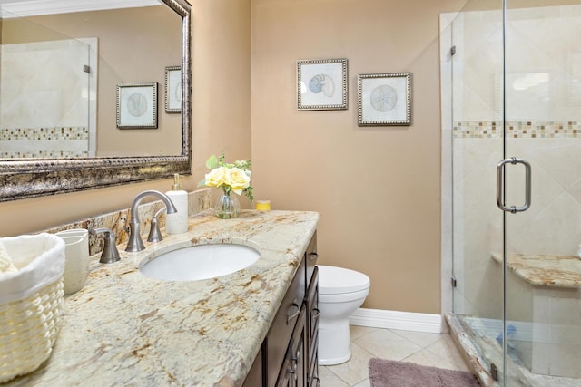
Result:
<svg viewBox="0 0 581 387"><path fill-rule="evenodd" d="M87 157L91 39L0 46L0 158ZM96 69L93 69L96 71Z"/></svg>

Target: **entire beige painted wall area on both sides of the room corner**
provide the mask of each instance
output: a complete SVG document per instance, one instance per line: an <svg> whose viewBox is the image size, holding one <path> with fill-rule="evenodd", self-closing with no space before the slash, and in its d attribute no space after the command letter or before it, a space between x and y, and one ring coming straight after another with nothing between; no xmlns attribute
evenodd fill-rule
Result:
<svg viewBox="0 0 581 387"><path fill-rule="evenodd" d="M438 14L463 3L192 1L194 156L185 188L202 179L211 153L251 158L256 198L320 211L321 264L371 277L365 307L439 313ZM349 110L296 111L296 60L335 57L349 59ZM391 72L413 73L412 126L359 128L357 74ZM0 235L128 207L139 191L167 187L0 203Z"/></svg>

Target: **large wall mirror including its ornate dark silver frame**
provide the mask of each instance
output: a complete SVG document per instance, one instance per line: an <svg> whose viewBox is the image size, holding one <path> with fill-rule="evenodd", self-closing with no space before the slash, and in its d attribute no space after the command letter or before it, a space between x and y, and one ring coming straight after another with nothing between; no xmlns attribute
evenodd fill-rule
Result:
<svg viewBox="0 0 581 387"><path fill-rule="evenodd" d="M186 0L0 0L0 13L0 201L191 173Z"/></svg>

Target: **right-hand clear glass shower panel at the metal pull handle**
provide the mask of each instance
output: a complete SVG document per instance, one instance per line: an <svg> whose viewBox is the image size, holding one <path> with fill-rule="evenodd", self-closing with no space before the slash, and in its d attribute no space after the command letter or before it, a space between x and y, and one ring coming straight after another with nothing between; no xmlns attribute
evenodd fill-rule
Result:
<svg viewBox="0 0 581 387"><path fill-rule="evenodd" d="M577 3L577 4L575 4ZM506 1L506 385L581 385L581 1ZM566 5L565 5L566 4ZM524 201L507 167L506 201Z"/></svg>

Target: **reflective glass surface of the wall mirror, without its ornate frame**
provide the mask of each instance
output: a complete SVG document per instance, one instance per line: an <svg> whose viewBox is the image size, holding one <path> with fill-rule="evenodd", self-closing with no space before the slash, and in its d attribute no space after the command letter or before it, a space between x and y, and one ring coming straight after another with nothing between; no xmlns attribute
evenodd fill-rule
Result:
<svg viewBox="0 0 581 387"><path fill-rule="evenodd" d="M181 117L157 109L165 104L164 69L181 63L181 17L157 1L113 5L3 17L0 158L181 154ZM154 114L154 131L118 128L124 106L116 106L116 87L127 83L156 85L155 99L130 110L137 121Z"/></svg>

